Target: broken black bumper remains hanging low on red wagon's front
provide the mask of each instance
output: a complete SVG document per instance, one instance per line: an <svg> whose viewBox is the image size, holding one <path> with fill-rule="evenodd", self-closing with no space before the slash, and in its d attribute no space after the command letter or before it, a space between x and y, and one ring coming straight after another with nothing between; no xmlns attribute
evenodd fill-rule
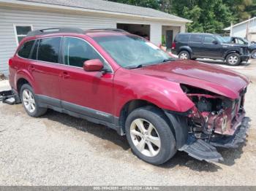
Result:
<svg viewBox="0 0 256 191"><path fill-rule="evenodd" d="M197 160L207 162L222 161L222 155L217 152L216 147L237 148L246 139L246 131L249 129L249 117L244 117L241 125L237 128L233 136L222 136L210 140L196 139L192 134L189 135L187 144L180 151L187 152L189 156Z"/></svg>

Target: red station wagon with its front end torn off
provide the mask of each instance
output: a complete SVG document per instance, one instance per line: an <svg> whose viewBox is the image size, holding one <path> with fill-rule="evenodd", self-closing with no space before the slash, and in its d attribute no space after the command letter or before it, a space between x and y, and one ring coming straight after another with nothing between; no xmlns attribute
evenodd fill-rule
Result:
<svg viewBox="0 0 256 191"><path fill-rule="evenodd" d="M31 31L9 65L12 91L31 117L53 109L106 125L147 163L165 163L177 150L218 162L216 147L246 138L246 77L176 60L126 31Z"/></svg>

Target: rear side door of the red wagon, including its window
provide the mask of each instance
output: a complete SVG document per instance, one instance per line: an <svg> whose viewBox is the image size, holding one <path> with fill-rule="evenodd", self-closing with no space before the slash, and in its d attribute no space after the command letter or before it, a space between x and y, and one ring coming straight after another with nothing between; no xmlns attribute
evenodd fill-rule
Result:
<svg viewBox="0 0 256 191"><path fill-rule="evenodd" d="M37 39L31 53L31 62L28 71L34 77L35 93L42 98L45 104L60 105L59 75L61 37Z"/></svg>

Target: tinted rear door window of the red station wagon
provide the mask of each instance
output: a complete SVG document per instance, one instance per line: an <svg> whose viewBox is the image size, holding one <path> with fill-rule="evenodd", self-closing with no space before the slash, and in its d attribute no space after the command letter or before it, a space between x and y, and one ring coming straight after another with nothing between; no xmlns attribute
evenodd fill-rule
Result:
<svg viewBox="0 0 256 191"><path fill-rule="evenodd" d="M61 38L39 39L38 42L37 60L58 63ZM32 55L34 55L34 52Z"/></svg>

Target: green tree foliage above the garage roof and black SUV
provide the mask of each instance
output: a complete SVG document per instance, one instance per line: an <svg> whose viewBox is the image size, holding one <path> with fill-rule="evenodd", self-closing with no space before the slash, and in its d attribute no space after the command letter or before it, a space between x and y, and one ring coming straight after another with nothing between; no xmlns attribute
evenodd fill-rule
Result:
<svg viewBox="0 0 256 191"><path fill-rule="evenodd" d="M192 20L189 32L222 33L230 23L256 16L256 0L110 0L159 9Z"/></svg>

